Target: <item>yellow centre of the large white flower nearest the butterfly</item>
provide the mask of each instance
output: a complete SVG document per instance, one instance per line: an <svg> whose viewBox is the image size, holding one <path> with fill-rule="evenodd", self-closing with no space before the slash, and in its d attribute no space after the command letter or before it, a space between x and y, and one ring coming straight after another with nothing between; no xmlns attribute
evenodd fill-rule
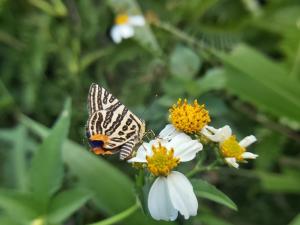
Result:
<svg viewBox="0 0 300 225"><path fill-rule="evenodd" d="M166 149L160 143L158 147L152 145L152 156L147 156L148 170L154 176L167 176L179 164L179 158L174 157L174 149Z"/></svg>

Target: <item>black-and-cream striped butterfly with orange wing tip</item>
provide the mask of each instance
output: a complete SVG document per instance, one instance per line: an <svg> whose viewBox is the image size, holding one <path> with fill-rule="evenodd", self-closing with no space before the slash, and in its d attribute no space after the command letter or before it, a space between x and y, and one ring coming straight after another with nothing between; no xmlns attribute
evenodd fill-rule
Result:
<svg viewBox="0 0 300 225"><path fill-rule="evenodd" d="M124 160L144 136L145 121L95 83L89 90L88 113L86 136L97 155L120 152L120 159Z"/></svg>

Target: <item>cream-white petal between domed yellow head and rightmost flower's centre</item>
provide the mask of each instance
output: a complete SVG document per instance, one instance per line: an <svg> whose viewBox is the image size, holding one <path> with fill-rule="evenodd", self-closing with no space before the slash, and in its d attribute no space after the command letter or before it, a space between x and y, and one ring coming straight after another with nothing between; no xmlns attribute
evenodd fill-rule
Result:
<svg viewBox="0 0 300 225"><path fill-rule="evenodd" d="M221 127L219 129L215 129L214 127L211 126L205 126L201 130L201 133L205 137L207 137L208 139L214 142L223 142L232 135L231 128L228 125Z"/></svg>

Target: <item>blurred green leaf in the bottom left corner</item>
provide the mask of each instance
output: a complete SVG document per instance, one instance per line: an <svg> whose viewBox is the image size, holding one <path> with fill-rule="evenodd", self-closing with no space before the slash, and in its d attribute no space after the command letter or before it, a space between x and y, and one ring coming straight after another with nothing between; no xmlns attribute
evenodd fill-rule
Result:
<svg viewBox="0 0 300 225"><path fill-rule="evenodd" d="M39 203L29 193L0 189L0 207L19 222L30 221L39 215Z"/></svg>

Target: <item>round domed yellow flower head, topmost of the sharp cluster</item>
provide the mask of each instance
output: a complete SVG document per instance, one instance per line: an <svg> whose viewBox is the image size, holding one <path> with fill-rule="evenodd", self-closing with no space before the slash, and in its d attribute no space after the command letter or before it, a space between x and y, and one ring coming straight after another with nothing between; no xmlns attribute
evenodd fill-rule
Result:
<svg viewBox="0 0 300 225"><path fill-rule="evenodd" d="M185 133L196 133L210 122L208 111L197 100L188 104L186 99L178 99L177 105L174 104L169 112L169 120L174 127Z"/></svg>

